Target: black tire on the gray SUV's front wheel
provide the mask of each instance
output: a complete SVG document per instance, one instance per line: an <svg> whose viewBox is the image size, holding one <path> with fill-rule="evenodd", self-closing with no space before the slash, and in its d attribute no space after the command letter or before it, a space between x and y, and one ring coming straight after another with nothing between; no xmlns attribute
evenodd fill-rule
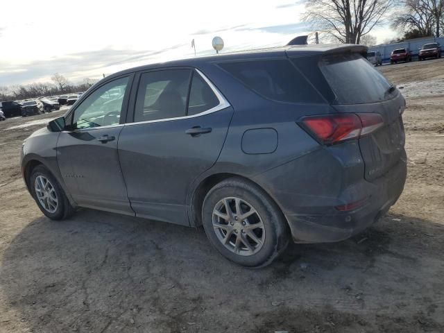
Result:
<svg viewBox="0 0 444 333"><path fill-rule="evenodd" d="M56 209L53 209L54 208L53 206L49 206L51 209L44 207L42 202L37 197L37 189L36 189L37 178L39 178L40 180L42 180L43 178L48 180L49 185L51 185L51 187L55 193L55 198L57 200ZM40 183L40 184L42 184L42 183ZM45 183L45 185L46 185L46 183ZM31 189L31 194L33 195L33 198L34 198L35 202L37 203L37 206L40 208L40 210L42 211L42 213L44 215L49 217L49 219L63 220L63 219L67 219L69 216L74 214L75 208L72 207L71 204L69 203L69 200L65 194L65 191L63 191L59 182L51 174L51 172L49 172L49 170L46 169L46 167L39 165L33 169L32 173L31 173L31 177L30 177L29 187ZM52 191L52 189L51 189L51 191ZM40 193L42 193L42 191L40 191ZM51 196L51 198L53 198L53 197L54 196ZM49 198L47 201L51 202L49 200ZM53 202L51 203L51 205L53 205Z"/></svg>

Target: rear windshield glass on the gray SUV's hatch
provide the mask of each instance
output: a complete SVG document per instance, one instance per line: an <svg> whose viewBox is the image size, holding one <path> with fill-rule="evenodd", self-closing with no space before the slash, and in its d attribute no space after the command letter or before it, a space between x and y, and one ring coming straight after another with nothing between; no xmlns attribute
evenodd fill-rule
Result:
<svg viewBox="0 0 444 333"><path fill-rule="evenodd" d="M359 54L324 56L320 67L336 95L335 103L375 103L391 98L391 83Z"/></svg>

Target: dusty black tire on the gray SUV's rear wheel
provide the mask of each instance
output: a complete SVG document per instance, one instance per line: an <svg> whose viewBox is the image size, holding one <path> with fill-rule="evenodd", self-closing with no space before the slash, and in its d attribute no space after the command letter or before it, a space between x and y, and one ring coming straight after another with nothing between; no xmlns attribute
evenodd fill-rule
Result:
<svg viewBox="0 0 444 333"><path fill-rule="evenodd" d="M233 213L231 219L214 214L217 211L228 217L227 204ZM237 220L238 207L244 215L254 212L243 221ZM271 264L289 244L289 230L279 207L263 189L243 178L228 178L210 189L203 201L202 221L212 246L241 266L258 268ZM223 228L215 228L213 223ZM254 228L255 225L259 227ZM229 232L225 245L223 241ZM236 250L238 239L241 242Z"/></svg>

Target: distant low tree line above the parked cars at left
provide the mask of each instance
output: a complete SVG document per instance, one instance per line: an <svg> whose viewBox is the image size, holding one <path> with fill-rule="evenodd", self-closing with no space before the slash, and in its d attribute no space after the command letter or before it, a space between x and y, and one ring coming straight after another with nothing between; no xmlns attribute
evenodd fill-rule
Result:
<svg viewBox="0 0 444 333"><path fill-rule="evenodd" d="M22 99L35 99L40 96L56 96L62 94L72 94L75 92L85 92L97 80L84 78L82 83L69 83L69 80L62 74L51 76L52 82L31 83L29 85L12 85L0 87L0 101L18 101Z"/></svg>

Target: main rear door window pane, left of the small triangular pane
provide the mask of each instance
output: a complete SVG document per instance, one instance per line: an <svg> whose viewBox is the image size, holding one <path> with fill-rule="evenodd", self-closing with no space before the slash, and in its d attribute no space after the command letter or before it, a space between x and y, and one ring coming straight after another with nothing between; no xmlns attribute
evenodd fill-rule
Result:
<svg viewBox="0 0 444 333"><path fill-rule="evenodd" d="M190 78L190 69L167 69L142 74L134 121L185 117Z"/></svg>

